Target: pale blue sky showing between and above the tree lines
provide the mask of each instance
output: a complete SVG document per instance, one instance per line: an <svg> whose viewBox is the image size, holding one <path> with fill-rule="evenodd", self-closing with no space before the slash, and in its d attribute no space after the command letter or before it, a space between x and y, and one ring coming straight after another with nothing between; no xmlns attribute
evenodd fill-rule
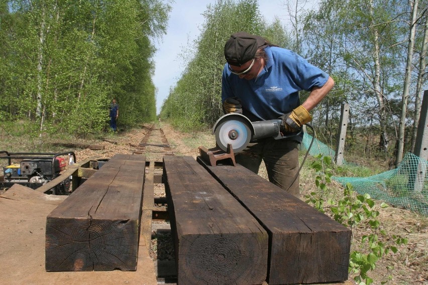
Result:
<svg viewBox="0 0 428 285"><path fill-rule="evenodd" d="M268 23L274 16L285 21L287 13L284 2L285 0L259 0L259 10ZM215 3L216 0L176 0L171 4L168 31L163 41L156 43L158 51L154 56L156 69L153 83L158 89L157 113L168 97L170 87L175 86L184 70L183 61L179 57L182 47L199 36L199 28L204 21L202 13L208 4Z"/></svg>

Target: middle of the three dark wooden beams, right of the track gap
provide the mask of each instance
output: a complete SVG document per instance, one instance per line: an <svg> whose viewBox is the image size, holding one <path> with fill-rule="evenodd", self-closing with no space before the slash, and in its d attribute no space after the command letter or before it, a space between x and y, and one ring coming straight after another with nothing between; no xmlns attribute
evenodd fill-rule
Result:
<svg viewBox="0 0 428 285"><path fill-rule="evenodd" d="M165 156L179 284L261 284L268 235L192 157Z"/></svg>

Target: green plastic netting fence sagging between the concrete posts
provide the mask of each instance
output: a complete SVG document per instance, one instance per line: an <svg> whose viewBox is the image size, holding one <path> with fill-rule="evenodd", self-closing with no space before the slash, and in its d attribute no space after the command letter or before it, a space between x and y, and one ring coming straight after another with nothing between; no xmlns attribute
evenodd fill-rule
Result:
<svg viewBox="0 0 428 285"><path fill-rule="evenodd" d="M308 149L312 136L304 133L301 147ZM335 151L318 139L314 139L311 156L319 154L335 157ZM345 160L343 164L347 163ZM370 177L332 177L346 185L350 183L360 194L370 194L373 199L390 205L428 215L428 161L407 153L400 165L393 170Z"/></svg>

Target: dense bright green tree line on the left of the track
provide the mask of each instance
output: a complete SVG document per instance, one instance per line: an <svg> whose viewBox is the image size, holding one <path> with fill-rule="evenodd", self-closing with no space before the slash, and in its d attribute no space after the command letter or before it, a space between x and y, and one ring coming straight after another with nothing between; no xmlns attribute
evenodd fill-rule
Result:
<svg viewBox="0 0 428 285"><path fill-rule="evenodd" d="M161 0L0 0L0 122L34 133L96 132L115 98L120 125L156 118L153 41Z"/></svg>

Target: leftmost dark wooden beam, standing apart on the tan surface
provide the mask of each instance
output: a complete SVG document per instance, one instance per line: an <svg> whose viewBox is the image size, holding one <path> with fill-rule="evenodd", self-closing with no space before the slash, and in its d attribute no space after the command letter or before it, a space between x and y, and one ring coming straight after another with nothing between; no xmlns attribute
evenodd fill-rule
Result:
<svg viewBox="0 0 428 285"><path fill-rule="evenodd" d="M116 155L46 219L46 270L136 270L145 157Z"/></svg>

